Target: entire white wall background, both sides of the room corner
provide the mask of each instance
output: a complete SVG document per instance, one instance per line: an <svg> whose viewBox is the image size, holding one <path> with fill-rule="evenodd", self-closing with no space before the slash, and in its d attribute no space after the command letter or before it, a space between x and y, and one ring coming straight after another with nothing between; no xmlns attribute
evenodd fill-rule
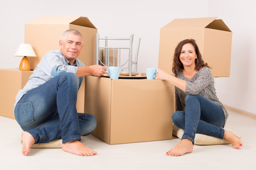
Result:
<svg viewBox="0 0 256 170"><path fill-rule="evenodd" d="M250 8L253 11L253 8L244 1L4 1L0 11L0 68L18 68L21 58L14 57L14 53L24 41L25 23L39 16L86 16L101 36L123 38L134 34L135 44L137 38L142 38L139 72L145 72L146 67L158 65L161 27L174 18L218 16L233 30L231 76L215 80L218 96L229 106L256 113L253 108L256 101L255 79L252 75L255 70L252 67L256 40L252 29L255 23L252 23L253 15L247 10Z"/></svg>

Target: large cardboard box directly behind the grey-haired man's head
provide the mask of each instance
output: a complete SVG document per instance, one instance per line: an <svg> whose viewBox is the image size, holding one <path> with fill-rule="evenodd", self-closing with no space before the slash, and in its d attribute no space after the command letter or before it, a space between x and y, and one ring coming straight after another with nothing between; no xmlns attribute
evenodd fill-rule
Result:
<svg viewBox="0 0 256 170"><path fill-rule="evenodd" d="M95 64L97 28L87 17L43 16L26 23L25 43L32 45L36 57L28 57L31 69L35 69L49 50L59 49L58 42L65 30L76 29L82 34L82 51L78 57L85 65Z"/></svg>

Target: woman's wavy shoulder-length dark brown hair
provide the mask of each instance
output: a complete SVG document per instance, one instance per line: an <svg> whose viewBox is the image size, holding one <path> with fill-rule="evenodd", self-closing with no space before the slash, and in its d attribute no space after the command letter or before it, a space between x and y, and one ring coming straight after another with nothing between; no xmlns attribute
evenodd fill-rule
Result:
<svg viewBox="0 0 256 170"><path fill-rule="evenodd" d="M173 62L173 67L172 67L172 71L174 72L175 75L177 75L178 69L184 69L183 64L182 64L181 60L179 59L179 57L181 55L181 49L182 49L183 45L188 44L188 43L193 45L195 52L196 52L197 59L195 60L195 64L196 64L195 69L197 71L199 71L199 69L201 69L203 67L209 67L207 63L203 62L201 52L199 51L198 45L196 45L196 40L186 39L186 40L179 42L177 47L175 48L174 62Z"/></svg>

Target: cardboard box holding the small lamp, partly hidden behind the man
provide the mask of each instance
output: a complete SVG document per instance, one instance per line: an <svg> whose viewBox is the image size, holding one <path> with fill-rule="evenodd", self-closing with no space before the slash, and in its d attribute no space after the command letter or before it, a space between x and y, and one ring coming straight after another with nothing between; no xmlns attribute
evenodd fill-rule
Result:
<svg viewBox="0 0 256 170"><path fill-rule="evenodd" d="M33 71L20 71L19 69L0 69L0 115L14 118L14 103L20 89L26 85ZM78 113L85 113L85 79L78 91Z"/></svg>

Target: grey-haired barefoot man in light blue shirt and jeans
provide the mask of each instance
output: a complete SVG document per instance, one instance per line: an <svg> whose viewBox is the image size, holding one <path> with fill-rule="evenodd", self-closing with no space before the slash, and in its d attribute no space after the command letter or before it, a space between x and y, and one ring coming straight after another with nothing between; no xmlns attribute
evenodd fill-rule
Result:
<svg viewBox="0 0 256 170"><path fill-rule="evenodd" d="M106 67L85 66L77 59L83 46L78 30L66 30L59 45L60 50L46 53L16 96L14 115L24 130L21 137L25 156L33 144L60 138L65 152L80 156L97 153L80 142L81 135L95 130L96 120L90 114L77 113L76 103L83 77L100 77Z"/></svg>

